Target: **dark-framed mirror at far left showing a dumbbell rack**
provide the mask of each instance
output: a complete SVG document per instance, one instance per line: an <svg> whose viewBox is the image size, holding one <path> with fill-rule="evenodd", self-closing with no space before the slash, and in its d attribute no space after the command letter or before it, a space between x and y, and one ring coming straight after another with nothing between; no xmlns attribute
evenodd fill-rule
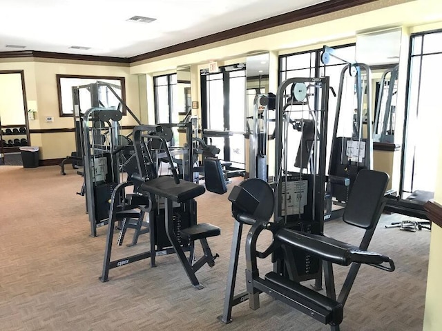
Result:
<svg viewBox="0 0 442 331"><path fill-rule="evenodd" d="M26 108L23 70L0 71L1 154L29 145Z"/></svg>

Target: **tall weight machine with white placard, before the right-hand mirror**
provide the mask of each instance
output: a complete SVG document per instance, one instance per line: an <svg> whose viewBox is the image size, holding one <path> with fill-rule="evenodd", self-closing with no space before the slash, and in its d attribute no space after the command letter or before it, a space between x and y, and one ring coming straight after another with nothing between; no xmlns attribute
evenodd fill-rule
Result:
<svg viewBox="0 0 442 331"><path fill-rule="evenodd" d="M344 208L334 209L333 205L345 207L358 172L373 169L372 92L369 66L341 59L336 50L324 46L321 61L327 64L330 57L347 63L340 73L327 183L326 218L336 219L342 217ZM345 84L346 78L351 83ZM352 96L352 106L356 104L352 114L345 114L347 121L343 117L345 88Z"/></svg>

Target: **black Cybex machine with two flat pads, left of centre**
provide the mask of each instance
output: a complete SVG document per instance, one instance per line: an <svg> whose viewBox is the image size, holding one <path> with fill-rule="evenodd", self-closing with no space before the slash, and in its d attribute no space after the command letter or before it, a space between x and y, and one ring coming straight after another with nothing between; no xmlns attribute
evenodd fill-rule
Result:
<svg viewBox="0 0 442 331"><path fill-rule="evenodd" d="M166 140L160 134L161 130L160 126L136 126L133 129L137 173L131 175L131 181L119 184L113 191L103 271L99 279L108 281L108 273L112 268L148 258L151 259L151 267L154 267L155 257L177 254L192 285L202 289L204 286L198 281L195 272L206 263L210 267L215 265L218 254L213 256L207 238L218 236L220 228L209 223L197 223L195 197L203 194L206 189L202 185L178 178ZM157 164L150 147L155 139L161 141L164 146L172 177L157 176ZM218 194L227 192L219 160L211 159L208 162L212 162L212 168L216 170L213 171L212 178L218 175L219 179L218 185L215 183L208 190ZM131 199L125 199L124 189L130 185L133 185L134 194L130 194ZM111 261L115 222L133 217L134 213L139 214L137 211L134 212L134 208L148 212L151 249L148 252ZM123 226L123 236L125 229ZM122 245L122 234L118 245ZM194 243L197 240L202 245L204 256L195 261ZM189 252L189 257L186 257L185 252Z"/></svg>

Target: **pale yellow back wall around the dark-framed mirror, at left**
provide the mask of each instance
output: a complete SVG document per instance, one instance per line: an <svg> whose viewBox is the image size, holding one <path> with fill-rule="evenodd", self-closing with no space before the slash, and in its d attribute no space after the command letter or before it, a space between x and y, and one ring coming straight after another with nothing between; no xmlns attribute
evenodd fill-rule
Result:
<svg viewBox="0 0 442 331"><path fill-rule="evenodd" d="M35 120L29 121L31 130L74 128L72 117L59 117L56 74L124 77L126 103L140 118L138 77L130 74L128 65L55 59L14 59L8 62L7 59L3 59L0 62L0 70L24 70L28 108L36 111ZM46 123L46 117L53 117L54 121ZM135 123L130 115L122 119L123 126ZM73 132L31 134L30 144L39 146L40 159L58 159L70 155L70 152L75 150L75 136Z"/></svg>

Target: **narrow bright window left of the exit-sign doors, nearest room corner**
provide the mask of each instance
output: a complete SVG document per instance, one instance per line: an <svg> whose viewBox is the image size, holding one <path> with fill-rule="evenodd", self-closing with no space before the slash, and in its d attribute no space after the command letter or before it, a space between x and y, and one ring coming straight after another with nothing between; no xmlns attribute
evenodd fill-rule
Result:
<svg viewBox="0 0 442 331"><path fill-rule="evenodd" d="M155 123L177 123L177 74L153 77Z"/></svg>

